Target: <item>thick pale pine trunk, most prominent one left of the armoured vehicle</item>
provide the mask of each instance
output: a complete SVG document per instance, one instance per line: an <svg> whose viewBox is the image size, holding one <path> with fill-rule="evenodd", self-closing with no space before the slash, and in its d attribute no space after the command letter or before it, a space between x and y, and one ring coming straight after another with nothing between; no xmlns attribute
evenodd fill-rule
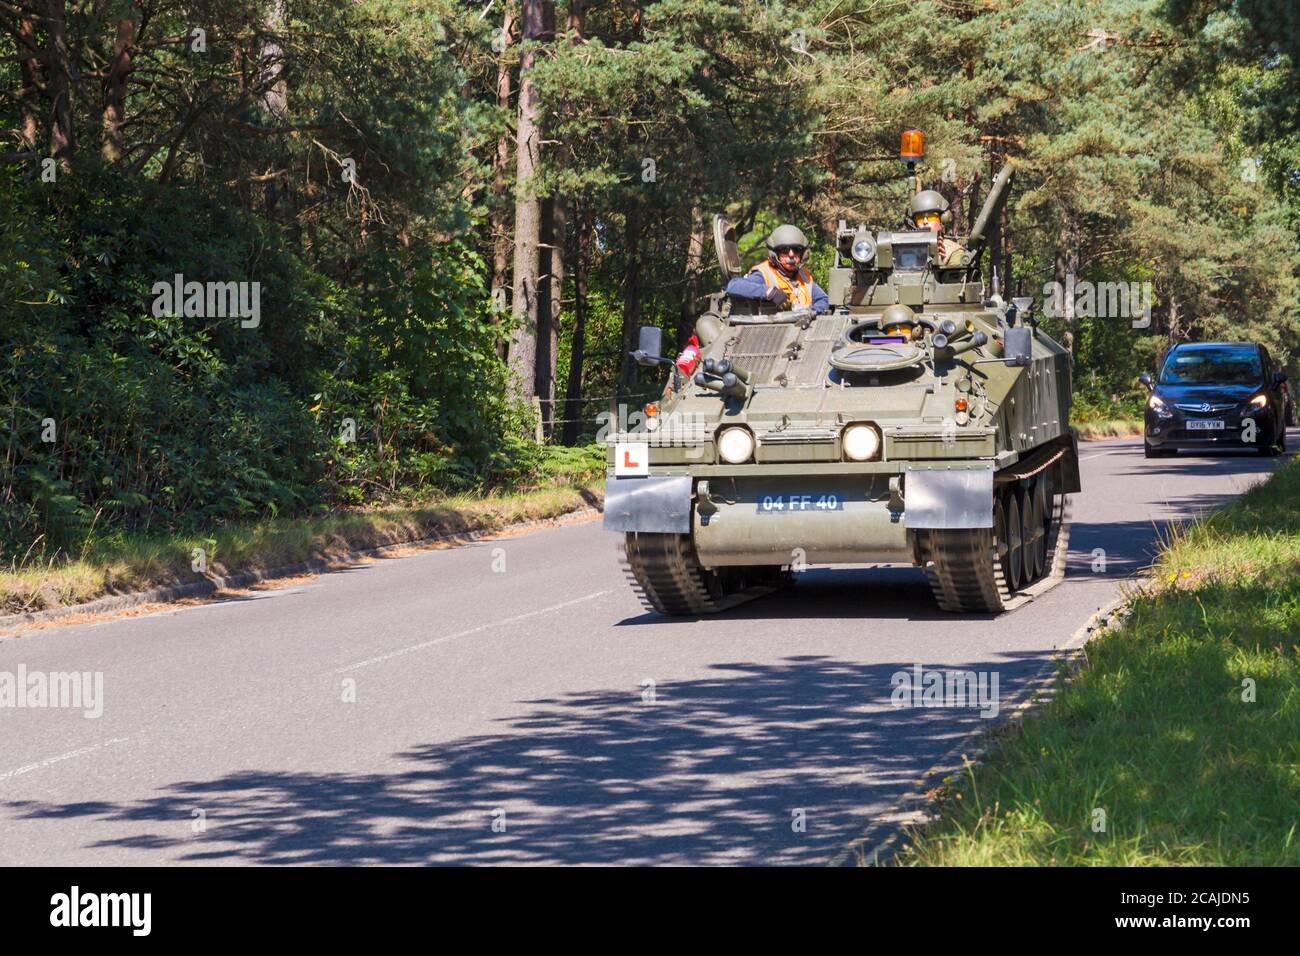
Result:
<svg viewBox="0 0 1300 956"><path fill-rule="evenodd" d="M542 0L524 0L524 51L519 60L519 125L515 150L515 282L511 316L515 328L510 341L511 394L532 399L537 394L537 246L541 232L541 204L536 183L541 163L537 85L533 81L536 43L542 35Z"/></svg>

